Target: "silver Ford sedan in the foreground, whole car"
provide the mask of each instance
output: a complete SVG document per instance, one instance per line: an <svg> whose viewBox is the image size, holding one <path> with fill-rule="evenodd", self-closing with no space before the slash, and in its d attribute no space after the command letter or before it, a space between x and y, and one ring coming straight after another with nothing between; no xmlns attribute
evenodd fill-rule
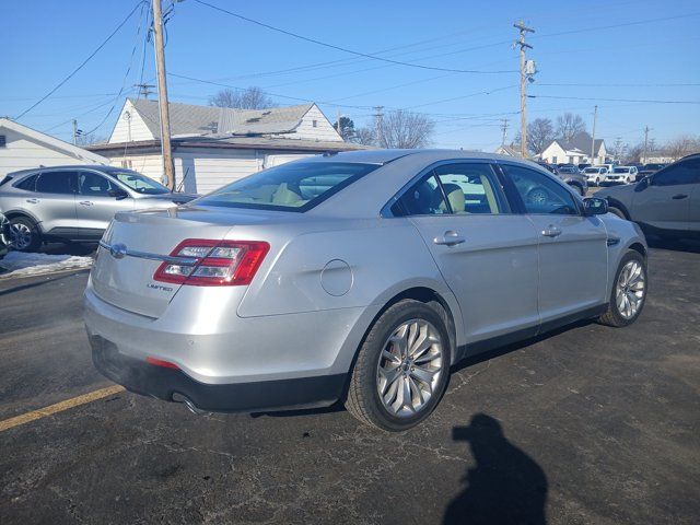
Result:
<svg viewBox="0 0 700 525"><path fill-rule="evenodd" d="M97 369L132 392L195 411L340 400L401 431L466 357L633 323L646 279L640 230L534 163L364 151L118 213L85 323Z"/></svg>

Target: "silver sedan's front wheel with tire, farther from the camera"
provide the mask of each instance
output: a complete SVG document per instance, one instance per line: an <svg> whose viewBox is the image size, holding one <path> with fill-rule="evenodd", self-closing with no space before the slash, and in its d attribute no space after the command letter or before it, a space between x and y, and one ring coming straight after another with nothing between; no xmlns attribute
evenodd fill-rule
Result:
<svg viewBox="0 0 700 525"><path fill-rule="evenodd" d="M646 302L646 260L630 249L625 254L612 281L608 310L598 323L616 328L631 325L642 313Z"/></svg>

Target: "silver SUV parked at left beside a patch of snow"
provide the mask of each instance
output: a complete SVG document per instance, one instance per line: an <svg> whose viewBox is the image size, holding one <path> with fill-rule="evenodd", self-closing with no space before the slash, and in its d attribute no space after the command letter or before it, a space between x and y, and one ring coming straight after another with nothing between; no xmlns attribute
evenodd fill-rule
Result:
<svg viewBox="0 0 700 525"><path fill-rule="evenodd" d="M0 180L0 210L15 249L44 241L96 242L118 211L168 208L194 199L150 177L112 166L25 170Z"/></svg>

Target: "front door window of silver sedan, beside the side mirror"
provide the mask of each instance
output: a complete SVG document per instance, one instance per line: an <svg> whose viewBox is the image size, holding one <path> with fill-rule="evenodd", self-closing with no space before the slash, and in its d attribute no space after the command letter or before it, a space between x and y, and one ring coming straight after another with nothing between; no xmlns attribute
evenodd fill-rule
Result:
<svg viewBox="0 0 700 525"><path fill-rule="evenodd" d="M504 165L503 170L513 180L527 213L579 214L573 195L544 173L514 165Z"/></svg>

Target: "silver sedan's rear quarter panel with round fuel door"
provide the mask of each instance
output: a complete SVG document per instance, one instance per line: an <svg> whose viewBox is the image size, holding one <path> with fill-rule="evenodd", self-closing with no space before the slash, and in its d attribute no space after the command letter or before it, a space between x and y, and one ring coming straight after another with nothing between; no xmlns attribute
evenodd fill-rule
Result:
<svg viewBox="0 0 700 525"><path fill-rule="evenodd" d="M238 306L242 317L383 304L419 285L447 291L413 225L378 218L331 222L300 233L259 277ZM349 284L345 293L342 282Z"/></svg>

